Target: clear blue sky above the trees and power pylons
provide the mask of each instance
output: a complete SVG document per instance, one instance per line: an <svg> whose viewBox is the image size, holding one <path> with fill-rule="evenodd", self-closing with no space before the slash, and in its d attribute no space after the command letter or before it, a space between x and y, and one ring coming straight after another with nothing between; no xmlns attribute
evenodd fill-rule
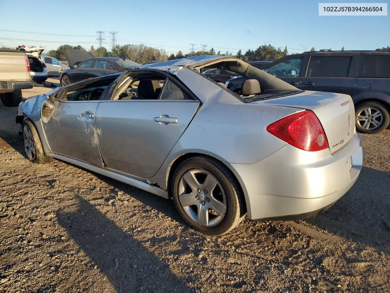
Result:
<svg viewBox="0 0 390 293"><path fill-rule="evenodd" d="M297 53L313 46L317 50L390 46L390 16L318 16L318 2L326 1L43 0L27 4L0 0L0 42L4 46L41 45L48 49L64 43L96 48L95 31L101 30L106 31L107 49L111 46L109 31L118 31L120 45L143 43L161 47L168 55L178 50L188 52L190 43L196 44L196 49L206 44L207 49L233 53L269 41L277 47L287 45L289 52Z"/></svg>

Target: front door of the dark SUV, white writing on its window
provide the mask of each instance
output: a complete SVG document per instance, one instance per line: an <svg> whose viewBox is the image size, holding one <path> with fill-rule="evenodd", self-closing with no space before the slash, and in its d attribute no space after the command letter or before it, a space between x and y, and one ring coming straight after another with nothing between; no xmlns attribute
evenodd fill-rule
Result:
<svg viewBox="0 0 390 293"><path fill-rule="evenodd" d="M267 66L267 73L300 88L307 54L286 56Z"/></svg>

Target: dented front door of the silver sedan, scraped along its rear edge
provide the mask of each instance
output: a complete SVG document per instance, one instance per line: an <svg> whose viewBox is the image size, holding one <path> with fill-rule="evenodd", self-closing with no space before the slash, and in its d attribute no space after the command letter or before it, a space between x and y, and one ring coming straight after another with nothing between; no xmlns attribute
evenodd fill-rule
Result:
<svg viewBox="0 0 390 293"><path fill-rule="evenodd" d="M99 101L44 103L42 126L53 153L103 167L95 128L98 104Z"/></svg>

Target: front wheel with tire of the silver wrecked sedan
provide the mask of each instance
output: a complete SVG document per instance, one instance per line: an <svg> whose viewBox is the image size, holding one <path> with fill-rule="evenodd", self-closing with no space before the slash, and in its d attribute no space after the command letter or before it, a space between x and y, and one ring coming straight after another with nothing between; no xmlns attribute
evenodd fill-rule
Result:
<svg viewBox="0 0 390 293"><path fill-rule="evenodd" d="M27 159L35 164L49 163L52 158L44 154L38 132L31 120L23 121L22 133Z"/></svg>

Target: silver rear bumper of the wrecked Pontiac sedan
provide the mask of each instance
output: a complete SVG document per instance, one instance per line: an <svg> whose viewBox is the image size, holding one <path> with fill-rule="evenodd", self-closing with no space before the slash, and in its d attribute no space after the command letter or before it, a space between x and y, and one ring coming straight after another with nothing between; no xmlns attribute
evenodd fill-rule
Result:
<svg viewBox="0 0 390 293"><path fill-rule="evenodd" d="M340 150L306 152L285 145L255 164L227 164L241 183L250 220L296 220L332 206L363 164L360 136Z"/></svg>

